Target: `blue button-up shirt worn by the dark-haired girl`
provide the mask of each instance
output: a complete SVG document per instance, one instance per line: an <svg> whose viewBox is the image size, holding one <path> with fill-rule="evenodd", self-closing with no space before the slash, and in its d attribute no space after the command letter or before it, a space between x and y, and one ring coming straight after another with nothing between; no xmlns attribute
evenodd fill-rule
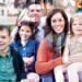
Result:
<svg viewBox="0 0 82 82"><path fill-rule="evenodd" d="M23 57L34 57L34 61L27 66L28 72L35 72L35 61L37 57L37 49L39 46L39 43L34 39L28 39L25 46L22 46L21 40L14 42L10 45L13 47L21 56Z"/></svg>

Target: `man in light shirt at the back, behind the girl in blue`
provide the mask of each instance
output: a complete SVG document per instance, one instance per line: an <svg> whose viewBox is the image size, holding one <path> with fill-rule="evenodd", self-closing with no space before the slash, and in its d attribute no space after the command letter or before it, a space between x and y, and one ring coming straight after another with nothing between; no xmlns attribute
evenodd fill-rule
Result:
<svg viewBox="0 0 82 82"><path fill-rule="evenodd" d="M40 21L42 15L43 15L40 2L38 2L38 1L30 2L27 9L28 9L27 10L27 12L28 12L27 20L33 22L35 39L38 42L42 42L42 39L44 38L44 35L45 35L45 33L44 33L45 22L43 23ZM15 27L11 34L13 36L13 38L16 33L16 30L17 30L17 27Z"/></svg>

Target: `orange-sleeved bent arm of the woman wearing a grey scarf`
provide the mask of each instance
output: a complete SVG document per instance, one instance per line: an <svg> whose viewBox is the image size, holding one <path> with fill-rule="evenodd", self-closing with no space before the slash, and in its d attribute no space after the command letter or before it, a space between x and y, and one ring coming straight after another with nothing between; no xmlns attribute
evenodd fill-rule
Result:
<svg viewBox="0 0 82 82"><path fill-rule="evenodd" d="M61 65L61 57L57 59L50 59L47 60L48 56L52 56L52 51L48 51L47 42L43 40L39 45L38 51L37 51L37 60L36 60L36 72L39 74L48 73L50 72L56 66Z"/></svg>

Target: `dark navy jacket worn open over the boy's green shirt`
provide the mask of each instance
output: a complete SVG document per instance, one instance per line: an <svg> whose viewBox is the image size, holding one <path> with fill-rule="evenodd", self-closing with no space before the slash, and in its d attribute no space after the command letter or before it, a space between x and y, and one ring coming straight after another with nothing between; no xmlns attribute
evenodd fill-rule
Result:
<svg viewBox="0 0 82 82"><path fill-rule="evenodd" d="M12 47L10 48L11 55L13 57L13 67L14 71L16 73L16 82L20 82L22 79L25 79L25 72L24 72L24 62L22 60L22 57L16 52Z"/></svg>

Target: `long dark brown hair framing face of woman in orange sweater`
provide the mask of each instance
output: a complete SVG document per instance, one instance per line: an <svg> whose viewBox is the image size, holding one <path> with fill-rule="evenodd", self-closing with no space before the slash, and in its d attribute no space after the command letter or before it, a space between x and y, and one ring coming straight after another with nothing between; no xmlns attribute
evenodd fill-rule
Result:
<svg viewBox="0 0 82 82"><path fill-rule="evenodd" d="M56 32L52 30L52 26L51 26L51 17L57 14L57 13L61 13L61 15L63 16L65 19L65 34L68 33L68 30L69 30L69 22L68 22L68 16L67 14L65 13L65 11L62 9L54 9L49 15L47 16L47 20L46 20L46 23L47 23L47 26L48 26L48 33L50 32L54 32L56 34Z"/></svg>

